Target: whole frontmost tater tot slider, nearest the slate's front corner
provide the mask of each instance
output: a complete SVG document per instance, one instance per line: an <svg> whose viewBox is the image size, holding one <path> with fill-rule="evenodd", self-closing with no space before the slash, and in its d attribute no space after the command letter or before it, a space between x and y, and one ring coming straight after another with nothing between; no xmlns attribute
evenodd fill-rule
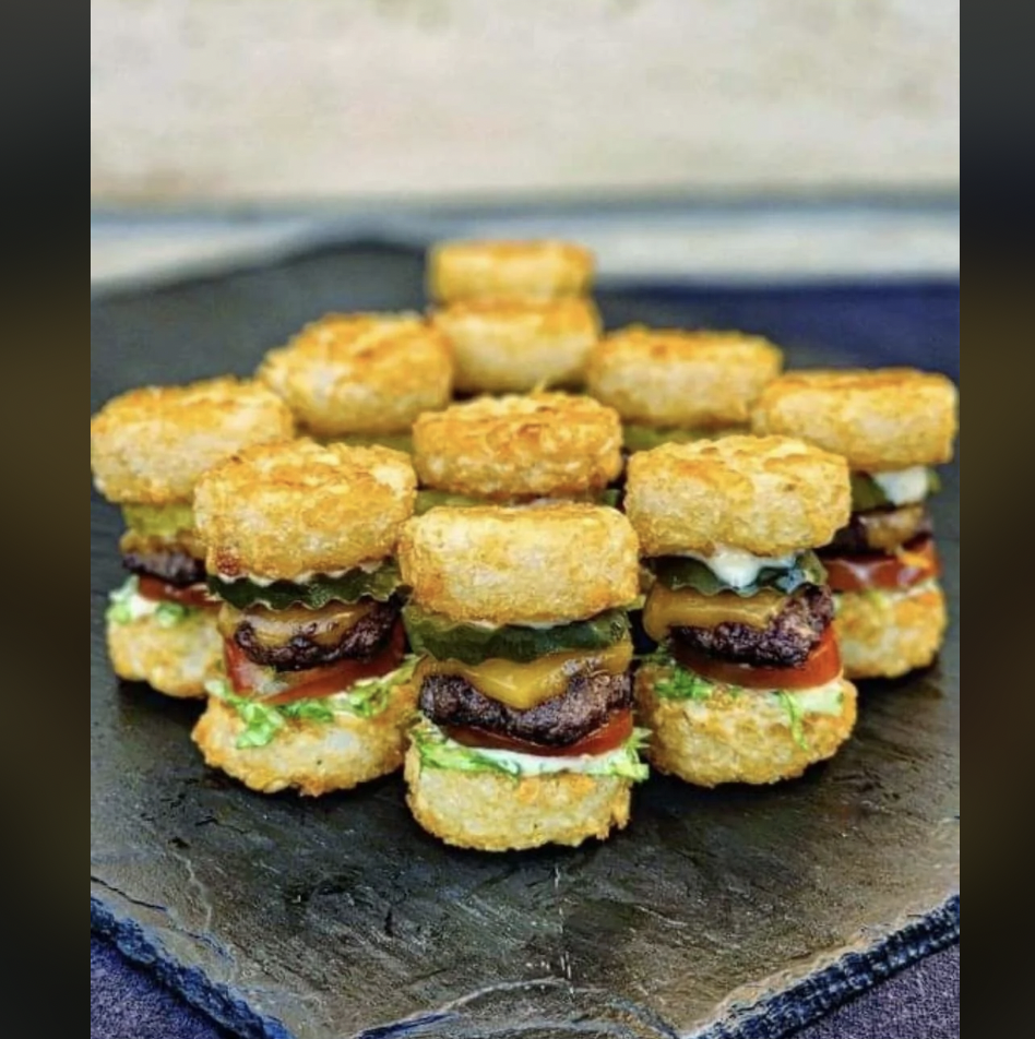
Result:
<svg viewBox="0 0 1035 1039"><path fill-rule="evenodd" d="M580 845L629 822L646 778L626 607L638 542L612 509L436 509L400 548L420 654L409 805L484 851Z"/></svg>

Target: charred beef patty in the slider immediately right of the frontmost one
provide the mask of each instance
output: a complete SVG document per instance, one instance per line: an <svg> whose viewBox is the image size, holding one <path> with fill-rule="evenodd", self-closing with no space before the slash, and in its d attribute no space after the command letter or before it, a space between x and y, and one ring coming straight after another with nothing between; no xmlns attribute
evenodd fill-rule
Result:
<svg viewBox="0 0 1035 1039"><path fill-rule="evenodd" d="M834 619L830 588L806 585L787 599L766 628L724 623L715 628L674 628L688 649L752 667L798 667L819 645Z"/></svg>

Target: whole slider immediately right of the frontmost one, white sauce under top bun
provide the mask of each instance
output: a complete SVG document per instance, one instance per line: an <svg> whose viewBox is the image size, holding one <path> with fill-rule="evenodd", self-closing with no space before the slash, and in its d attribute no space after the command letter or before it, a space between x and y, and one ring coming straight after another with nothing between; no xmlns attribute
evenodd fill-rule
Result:
<svg viewBox="0 0 1035 1039"><path fill-rule="evenodd" d="M848 518L843 458L782 437L634 455L626 505L662 645L637 695L651 761L688 783L770 784L831 757L856 721L812 550Z"/></svg>

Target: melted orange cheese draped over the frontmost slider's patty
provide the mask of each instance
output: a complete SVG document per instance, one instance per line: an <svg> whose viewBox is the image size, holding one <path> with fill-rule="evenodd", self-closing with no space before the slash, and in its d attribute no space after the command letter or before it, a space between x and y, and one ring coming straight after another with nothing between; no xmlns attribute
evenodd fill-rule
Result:
<svg viewBox="0 0 1035 1039"><path fill-rule="evenodd" d="M478 665L460 660L425 657L417 666L416 679L440 674L462 678L484 696L515 710L531 710L548 700L563 695L572 678L587 671L623 674L632 664L632 643L617 643L607 649L551 653L532 664L513 660L485 660Z"/></svg>

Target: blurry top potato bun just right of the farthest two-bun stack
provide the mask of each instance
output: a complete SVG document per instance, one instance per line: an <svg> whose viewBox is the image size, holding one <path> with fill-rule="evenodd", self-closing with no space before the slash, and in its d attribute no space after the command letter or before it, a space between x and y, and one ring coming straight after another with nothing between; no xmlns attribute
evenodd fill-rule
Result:
<svg viewBox="0 0 1035 1039"><path fill-rule="evenodd" d="M783 363L772 343L742 332L633 325L607 336L591 354L586 384L627 422L721 429L747 423Z"/></svg>

